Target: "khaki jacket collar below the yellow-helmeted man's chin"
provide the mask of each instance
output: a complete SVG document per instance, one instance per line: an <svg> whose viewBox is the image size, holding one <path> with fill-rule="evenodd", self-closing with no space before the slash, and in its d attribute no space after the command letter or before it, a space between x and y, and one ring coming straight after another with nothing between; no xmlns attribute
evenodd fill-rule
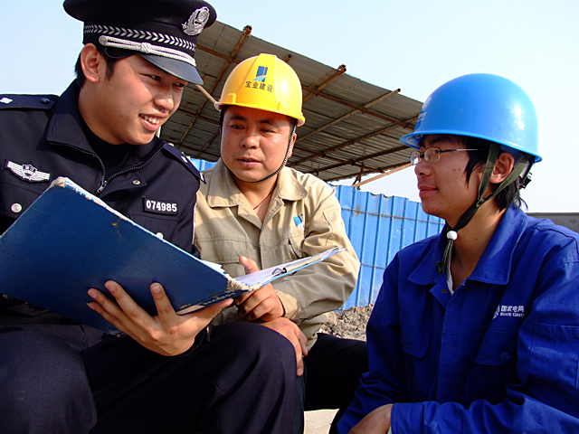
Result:
<svg viewBox="0 0 579 434"><path fill-rule="evenodd" d="M278 174L275 192L285 201L299 201L308 196L308 191L299 184L293 171L288 167L281 169L280 174ZM207 190L207 204L212 208L238 206L242 198L243 193L235 184L232 173L220 158L212 169L211 181Z"/></svg>

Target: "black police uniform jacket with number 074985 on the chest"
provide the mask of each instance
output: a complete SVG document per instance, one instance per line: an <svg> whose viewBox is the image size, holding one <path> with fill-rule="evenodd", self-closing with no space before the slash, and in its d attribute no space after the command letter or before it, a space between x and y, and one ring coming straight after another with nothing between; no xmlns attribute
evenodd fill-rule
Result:
<svg viewBox="0 0 579 434"><path fill-rule="evenodd" d="M131 146L134 152L125 165L116 173L106 173L84 132L87 127L78 98L76 83L60 99L53 95L0 98L5 101L0 102L0 232L56 177L67 176L132 221L199 256L193 231L202 175L195 165L155 137L147 145ZM169 204L171 211L151 203Z"/></svg>

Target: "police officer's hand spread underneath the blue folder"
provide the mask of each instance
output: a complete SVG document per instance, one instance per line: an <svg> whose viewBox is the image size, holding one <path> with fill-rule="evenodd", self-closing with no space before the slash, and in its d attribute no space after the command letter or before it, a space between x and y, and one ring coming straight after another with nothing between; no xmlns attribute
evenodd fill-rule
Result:
<svg viewBox="0 0 579 434"><path fill-rule="evenodd" d="M232 304L230 298L191 314L177 315L166 297L165 289L153 283L150 289L158 315L150 316L118 283L109 280L105 288L109 289L117 303L99 290L90 288L89 296L95 301L90 302L89 307L145 348L162 355L185 353L195 343L197 333L223 308Z"/></svg>

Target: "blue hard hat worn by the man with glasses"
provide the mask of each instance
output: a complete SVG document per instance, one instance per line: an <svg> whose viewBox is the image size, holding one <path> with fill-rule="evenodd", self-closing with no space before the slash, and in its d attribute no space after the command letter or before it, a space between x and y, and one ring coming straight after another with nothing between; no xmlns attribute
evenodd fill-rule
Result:
<svg viewBox="0 0 579 434"><path fill-rule="evenodd" d="M542 160L533 102L525 90L499 75L463 75L434 90L422 105L413 133L400 141L418 148L429 134L484 138Z"/></svg>

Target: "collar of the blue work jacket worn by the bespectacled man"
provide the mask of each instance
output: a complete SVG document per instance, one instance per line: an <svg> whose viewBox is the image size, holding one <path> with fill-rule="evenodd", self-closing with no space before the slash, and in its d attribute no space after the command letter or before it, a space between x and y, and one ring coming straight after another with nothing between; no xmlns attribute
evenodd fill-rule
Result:
<svg viewBox="0 0 579 434"><path fill-rule="evenodd" d="M527 215L520 209L509 207L498 223L497 230L489 241L468 279L480 282L507 285L515 248L527 228ZM460 235L459 235L460 236ZM438 273L436 262L442 259L446 237L438 236L432 255L426 255L409 279L419 285L429 285L441 281L444 275ZM444 278L445 279L445 278Z"/></svg>

